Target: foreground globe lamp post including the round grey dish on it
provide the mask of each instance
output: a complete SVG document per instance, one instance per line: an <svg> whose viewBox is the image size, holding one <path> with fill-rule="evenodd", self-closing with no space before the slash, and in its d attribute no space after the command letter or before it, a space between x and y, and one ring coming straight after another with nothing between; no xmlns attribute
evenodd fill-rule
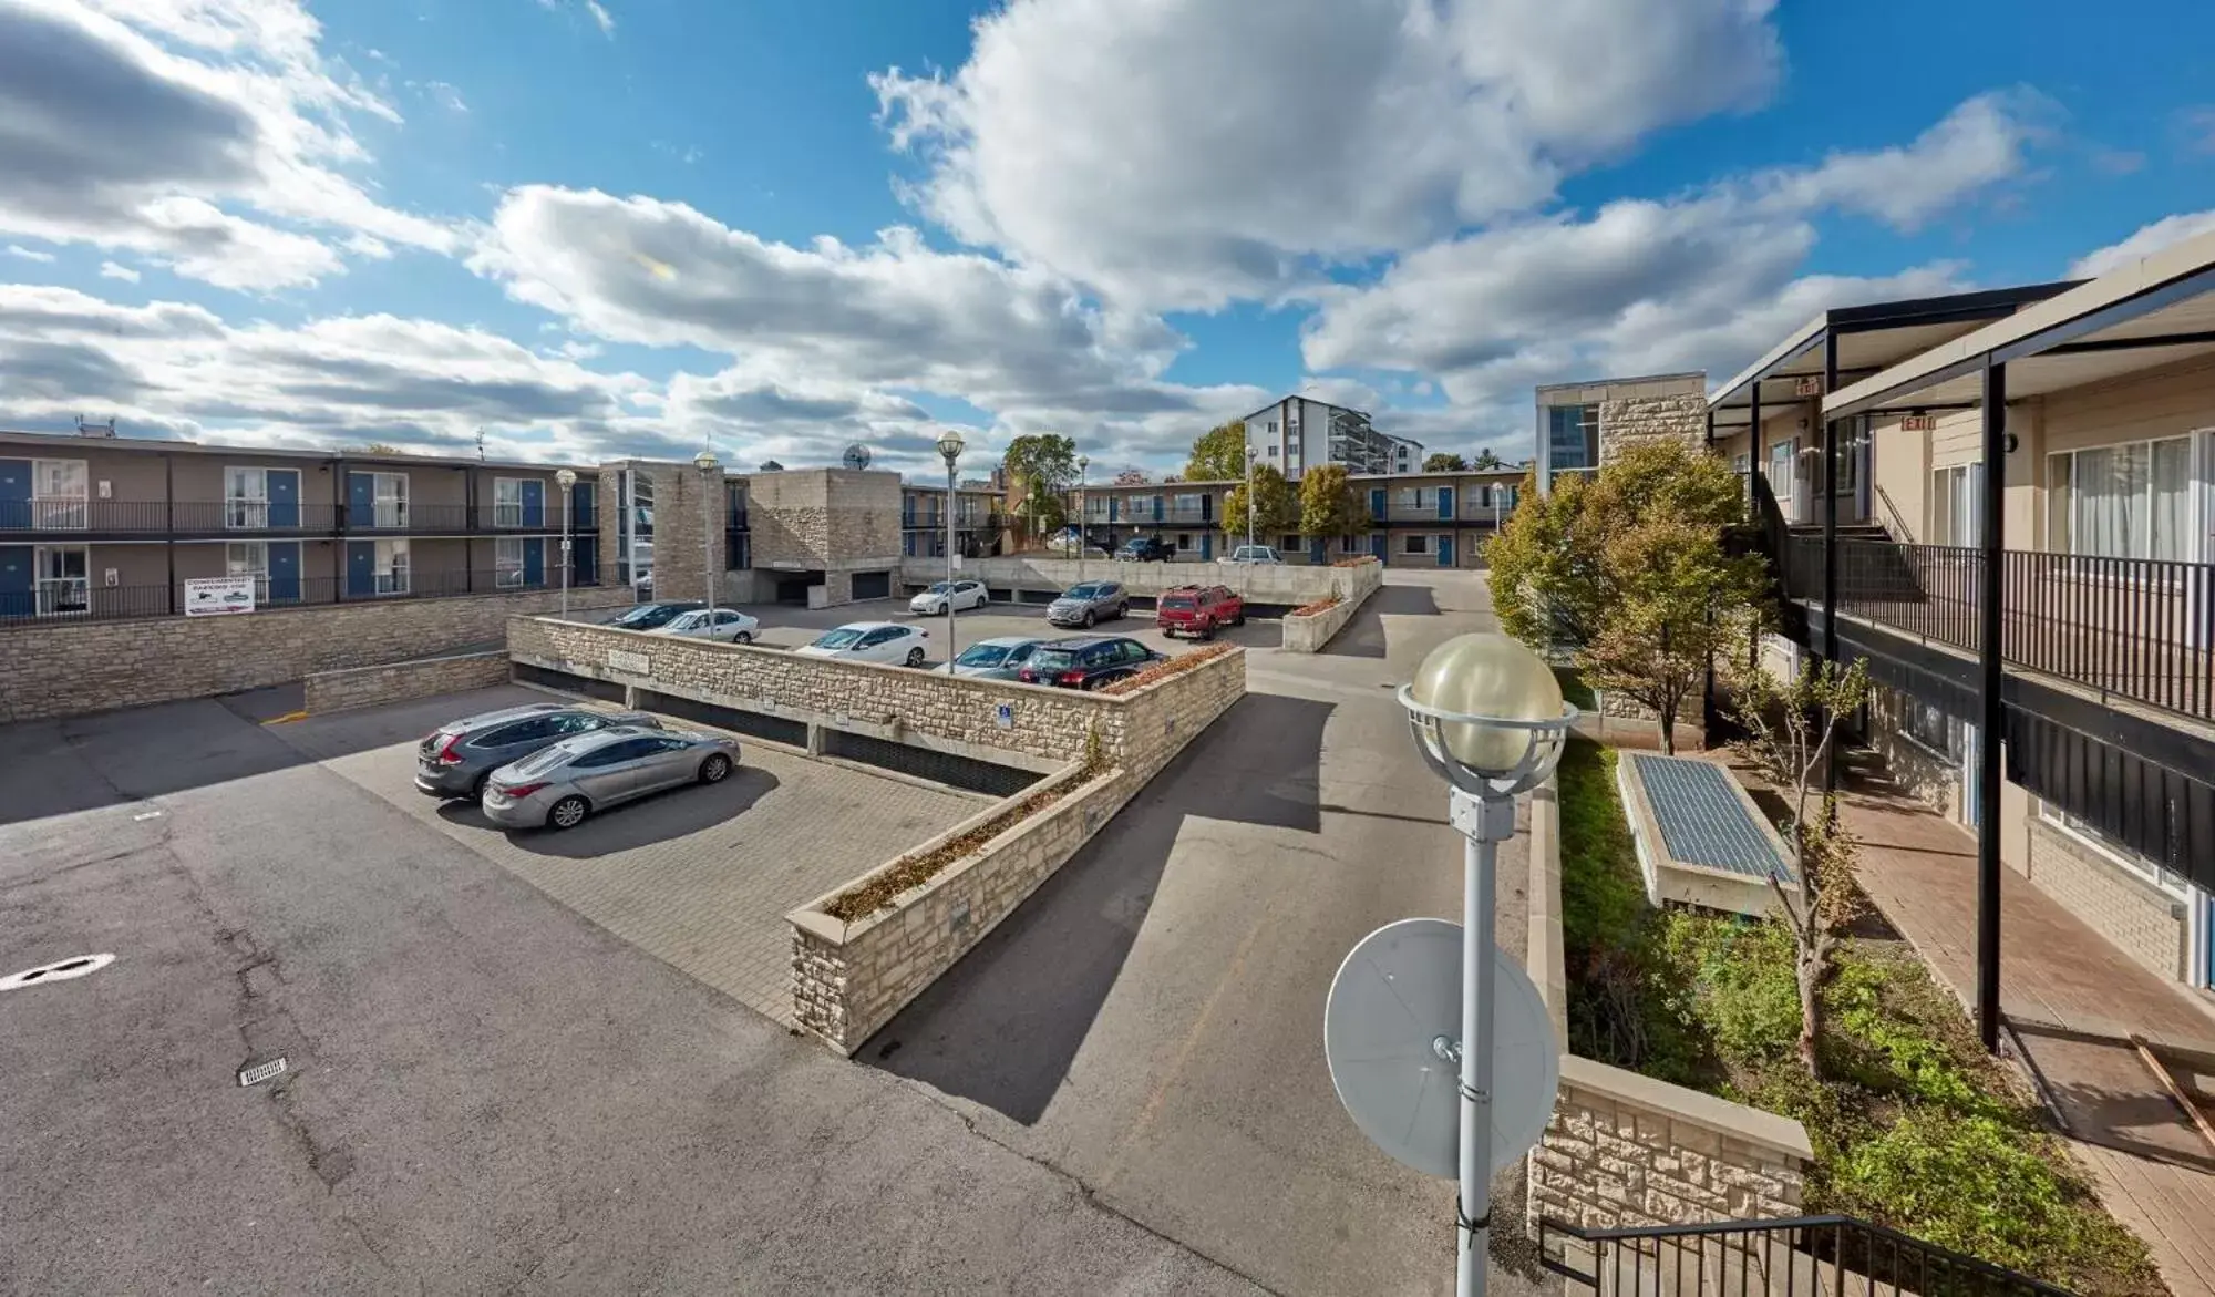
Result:
<svg viewBox="0 0 2215 1297"><path fill-rule="evenodd" d="M1562 1080L1546 1000L1493 943L1495 857L1515 837L1515 799L1559 764L1577 708L1506 635L1446 640L1398 699L1464 839L1462 925L1402 919L1364 936L1331 980L1322 1042L1362 1133L1460 1180L1455 1290L1473 1297L1484 1293L1491 1177L1544 1133Z"/></svg>

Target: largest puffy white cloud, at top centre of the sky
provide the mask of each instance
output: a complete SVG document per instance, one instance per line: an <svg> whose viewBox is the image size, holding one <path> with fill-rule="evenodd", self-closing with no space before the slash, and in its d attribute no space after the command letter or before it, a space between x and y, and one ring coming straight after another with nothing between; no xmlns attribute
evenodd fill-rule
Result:
<svg viewBox="0 0 2215 1297"><path fill-rule="evenodd" d="M1014 0L955 75L873 77L913 201L1141 308L1218 308L1526 210L1759 102L1770 0Z"/></svg>

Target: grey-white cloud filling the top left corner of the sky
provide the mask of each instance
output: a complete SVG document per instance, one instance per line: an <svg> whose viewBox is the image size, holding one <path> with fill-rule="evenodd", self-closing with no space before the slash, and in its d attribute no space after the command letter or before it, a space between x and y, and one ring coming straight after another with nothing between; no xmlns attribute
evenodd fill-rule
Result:
<svg viewBox="0 0 2215 1297"><path fill-rule="evenodd" d="M348 117L399 113L319 38L297 0L0 0L0 232L244 290L341 272L308 230L452 250L341 173Z"/></svg>

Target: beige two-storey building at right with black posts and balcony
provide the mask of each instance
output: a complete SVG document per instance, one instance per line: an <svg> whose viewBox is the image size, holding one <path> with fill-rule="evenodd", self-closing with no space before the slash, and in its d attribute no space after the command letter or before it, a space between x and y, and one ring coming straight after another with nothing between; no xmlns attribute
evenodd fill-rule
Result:
<svg viewBox="0 0 2215 1297"><path fill-rule="evenodd" d="M2084 283L1827 312L1710 418L1781 562L1783 666L1869 664L1867 737L1976 830L1980 894L2011 868L2206 987L2215 237ZM1978 954L1989 1040L1998 947Z"/></svg>

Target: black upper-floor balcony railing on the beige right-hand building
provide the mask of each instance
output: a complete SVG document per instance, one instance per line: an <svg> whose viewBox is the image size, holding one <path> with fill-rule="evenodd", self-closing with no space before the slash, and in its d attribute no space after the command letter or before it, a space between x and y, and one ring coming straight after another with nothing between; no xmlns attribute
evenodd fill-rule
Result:
<svg viewBox="0 0 2215 1297"><path fill-rule="evenodd" d="M1790 538L1785 591L1821 602L1821 538ZM1980 549L1838 542L1843 618L1980 653L1982 593ZM2009 549L2000 615L2009 666L2215 719L2215 564Z"/></svg>

